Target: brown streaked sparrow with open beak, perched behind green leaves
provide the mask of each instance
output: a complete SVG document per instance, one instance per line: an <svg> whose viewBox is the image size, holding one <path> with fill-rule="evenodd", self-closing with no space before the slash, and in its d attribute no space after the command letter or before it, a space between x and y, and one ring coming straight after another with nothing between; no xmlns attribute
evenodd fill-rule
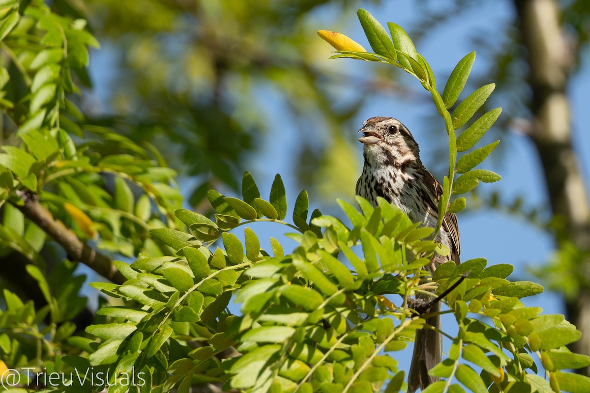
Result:
<svg viewBox="0 0 590 393"><path fill-rule="evenodd" d="M435 227L438 220L438 199L442 186L422 165L418 144L408 128L392 117L372 117L365 121L359 133L363 136L365 164L356 182L356 194L373 206L377 197L383 197L408 214L412 222ZM437 242L447 246L448 256L435 256L430 263L431 273L440 262L453 260L460 263L459 228L457 217L446 213ZM440 303L432 306L430 313L440 311ZM424 389L438 378L428 375L428 370L441 361L442 339L440 316L427 318L426 323L434 329L417 331L414 354L408 374L408 392Z"/></svg>

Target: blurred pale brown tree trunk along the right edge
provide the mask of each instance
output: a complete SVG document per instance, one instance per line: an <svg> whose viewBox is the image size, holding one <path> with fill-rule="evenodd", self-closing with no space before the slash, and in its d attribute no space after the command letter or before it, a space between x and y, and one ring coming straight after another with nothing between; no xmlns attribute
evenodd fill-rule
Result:
<svg viewBox="0 0 590 393"><path fill-rule="evenodd" d="M572 242L590 255L590 206L578 157L572 147L570 104L566 95L575 52L559 25L555 0L514 0L523 44L528 52L533 114L530 138L539 154L551 208L563 220L558 242ZM588 277L590 260L579 260L578 274ZM568 319L582 331L572 351L590 355L590 288L580 283L578 296L565 300ZM590 376L590 368L579 370Z"/></svg>

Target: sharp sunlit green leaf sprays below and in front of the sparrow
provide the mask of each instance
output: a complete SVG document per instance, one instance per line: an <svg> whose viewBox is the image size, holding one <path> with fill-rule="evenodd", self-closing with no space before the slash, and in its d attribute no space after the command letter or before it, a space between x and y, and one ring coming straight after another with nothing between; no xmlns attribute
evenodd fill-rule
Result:
<svg viewBox="0 0 590 393"><path fill-rule="evenodd" d="M250 203L240 200L255 209L260 193L250 174L242 187L256 190L245 192ZM238 199L209 195L225 213L225 203L238 206ZM284 197L279 191L271 195ZM459 280L445 299L445 313L455 317L458 329L445 328L453 345L431 371L445 379L428 391L461 389L457 382L473 392L490 386L506 390L515 382L544 386L549 382L534 375L540 366L549 378L583 391L585 379L563 371L590 362L565 347L579 338L579 331L562 315L540 315L539 308L523 306L520 298L543 289L509 282L512 266L486 267L483 258L456 267L449 262L437 269L432 282L421 283L417 278L427 274L422 266L429 262L423 255L438 246L423 240L432 229L412 224L384 199L373 208L360 198L361 212L339 201L350 224L316 215L303 225L301 211L307 206L301 195L294 209L298 225L262 216L219 229L200 214L177 210L189 228L206 224L217 228L217 235L152 230L176 255L142 256L124 265L127 282L105 291L124 299L124 305L101 308L106 323L86 329L100 340L88 355L90 365L121 369L132 364L149 373L161 391L204 381L246 391L399 391L404 373L396 351L424 328L425 318L408 308L408 297L428 288L442 293ZM244 243L232 233L260 221L296 229L291 237L299 246L272 256L248 227ZM312 226L321 230L316 233ZM212 248L216 240L223 249ZM362 256L352 252L358 246ZM227 308L232 298L240 305L238 315ZM230 348L239 354L221 361L219 355ZM77 359L64 361L74 366Z"/></svg>

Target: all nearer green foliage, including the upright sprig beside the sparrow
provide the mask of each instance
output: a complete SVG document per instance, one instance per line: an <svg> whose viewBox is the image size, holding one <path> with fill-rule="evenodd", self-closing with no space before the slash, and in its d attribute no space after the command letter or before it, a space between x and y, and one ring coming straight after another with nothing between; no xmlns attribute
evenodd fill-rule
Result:
<svg viewBox="0 0 590 393"><path fill-rule="evenodd" d="M389 38L368 12L358 15L375 53L335 57L392 64L431 93L450 146L439 213L460 211L466 199L449 203L453 193L499 180L475 169L497 143L457 160L489 130L499 109L455 137L493 85L476 90L451 114L474 53L455 67L441 96L430 65L403 28L389 23ZM444 379L425 391L561 387L577 393L588 386L588 378L566 372L590 363L565 347L579 331L562 315L525 307L519 299L542 287L507 280L512 266L487 266L483 258L450 262L428 279L423 267L429 257L445 253L428 240L433 229L410 222L383 199L373 207L358 198L360 210L338 200L350 222L343 223L317 209L310 213L306 191L294 203L292 223L286 222L278 175L267 199L245 173L241 199L208 191L212 216L179 209L175 173L156 148L87 124L76 107L74 81L89 84L88 48L98 45L83 19L57 15L40 0L4 1L0 38L6 54L0 108L14 131L0 153L0 252L28 259L26 272L47 303L35 310L31 300L4 290L0 366L70 376L60 379L64 387L44 391L101 391L108 384L108 392L188 392L192 385L217 384L251 392L395 392L405 379L398 351L417 329L428 328L429 315L408 308L409 297L449 289L443 312L455 317L458 329L445 327L453 345L431 370ZM77 295L85 277L75 275L77 264L67 259L45 273L44 229L19 210L31 192L78 238L135 259L114 262L122 284L92 284L109 298L100 299L85 332L76 333L71 322L86 305ZM299 245L284 250L271 238L271 250L261 249L247 227L254 222L284 224L296 231L288 236ZM235 235L242 226L244 242ZM240 305L236 315L232 301ZM545 378L536 375L540 367ZM99 373L107 378L90 381ZM137 377L134 383L125 379L129 375Z"/></svg>

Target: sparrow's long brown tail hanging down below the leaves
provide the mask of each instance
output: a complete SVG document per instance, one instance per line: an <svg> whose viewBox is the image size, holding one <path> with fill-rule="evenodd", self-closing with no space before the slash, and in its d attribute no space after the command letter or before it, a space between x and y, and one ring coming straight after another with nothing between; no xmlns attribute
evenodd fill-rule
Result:
<svg viewBox="0 0 590 393"><path fill-rule="evenodd" d="M440 303L432 306L429 313L440 311ZM440 315L431 316L426 319L427 325L440 330ZM414 343L414 354L412 363L409 366L408 393L425 389L428 385L438 381L438 377L428 375L428 370L441 362L442 358L442 336L441 333L431 328L422 328L416 332Z"/></svg>

